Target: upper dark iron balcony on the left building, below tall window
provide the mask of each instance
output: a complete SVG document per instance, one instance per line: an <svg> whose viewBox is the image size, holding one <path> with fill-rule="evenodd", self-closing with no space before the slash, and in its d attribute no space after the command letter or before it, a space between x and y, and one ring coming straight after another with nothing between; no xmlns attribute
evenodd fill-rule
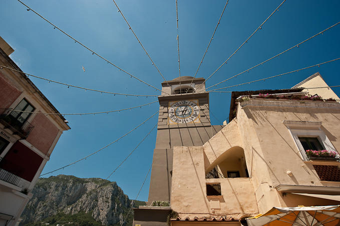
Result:
<svg viewBox="0 0 340 226"><path fill-rule="evenodd" d="M7 108L0 114L0 123L5 125L5 128L9 128L13 131L12 134L19 135L21 139L26 139L34 126L19 116L19 113L12 108Z"/></svg>

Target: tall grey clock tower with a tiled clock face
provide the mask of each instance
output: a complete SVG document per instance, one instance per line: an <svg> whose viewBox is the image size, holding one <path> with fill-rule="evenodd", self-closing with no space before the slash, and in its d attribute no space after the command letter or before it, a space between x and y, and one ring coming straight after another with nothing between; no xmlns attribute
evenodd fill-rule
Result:
<svg viewBox="0 0 340 226"><path fill-rule="evenodd" d="M166 225L171 206L158 208L152 203L170 202L173 147L202 146L223 128L210 124L209 92L204 81L202 77L181 76L162 82L148 206L135 209L133 225Z"/></svg>

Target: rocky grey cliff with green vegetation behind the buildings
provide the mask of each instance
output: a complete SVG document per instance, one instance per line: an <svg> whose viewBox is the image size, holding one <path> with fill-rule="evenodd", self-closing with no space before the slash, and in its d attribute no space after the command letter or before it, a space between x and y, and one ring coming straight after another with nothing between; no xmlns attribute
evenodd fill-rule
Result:
<svg viewBox="0 0 340 226"><path fill-rule="evenodd" d="M27 204L20 225L42 225L42 221L62 225L64 221L82 221L85 218L95 223L74 222L74 225L120 225L131 207L132 200L124 194L116 182L101 178L78 178L70 175L39 178ZM127 217L132 224L133 211ZM131 221L131 222L130 222ZM36 222L36 223L34 223ZM46 224L44 223L44 225Z"/></svg>

